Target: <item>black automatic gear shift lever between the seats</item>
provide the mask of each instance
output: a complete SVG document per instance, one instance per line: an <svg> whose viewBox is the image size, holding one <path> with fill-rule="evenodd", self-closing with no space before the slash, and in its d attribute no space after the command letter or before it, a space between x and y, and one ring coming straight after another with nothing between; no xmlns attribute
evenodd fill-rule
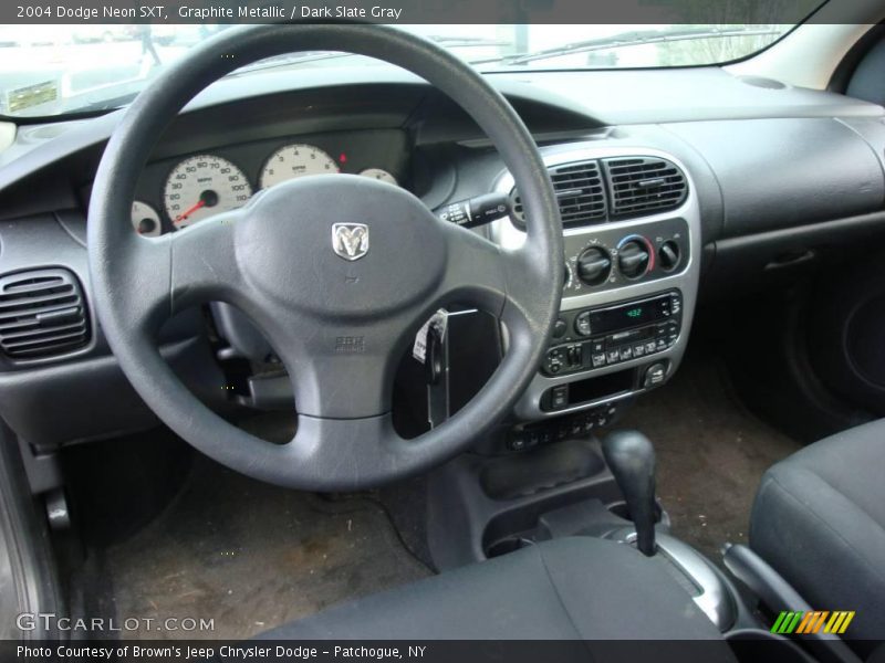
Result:
<svg viewBox="0 0 885 663"><path fill-rule="evenodd" d="M615 431L602 443L605 462L615 476L636 527L636 547L655 554L655 449L638 431Z"/></svg>

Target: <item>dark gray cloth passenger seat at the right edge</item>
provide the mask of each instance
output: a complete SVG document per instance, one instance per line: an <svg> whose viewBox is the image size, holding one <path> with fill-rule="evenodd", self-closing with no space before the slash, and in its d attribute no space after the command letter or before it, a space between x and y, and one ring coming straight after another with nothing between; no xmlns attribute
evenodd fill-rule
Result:
<svg viewBox="0 0 885 663"><path fill-rule="evenodd" d="M853 610L843 638L860 654L885 640L885 420L772 466L753 504L750 547L814 610Z"/></svg>

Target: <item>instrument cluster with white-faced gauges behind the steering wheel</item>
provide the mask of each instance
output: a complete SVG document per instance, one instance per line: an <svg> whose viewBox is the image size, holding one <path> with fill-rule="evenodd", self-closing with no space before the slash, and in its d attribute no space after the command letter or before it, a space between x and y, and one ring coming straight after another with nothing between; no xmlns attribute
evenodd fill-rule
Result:
<svg viewBox="0 0 885 663"><path fill-rule="evenodd" d="M348 172L399 186L400 131L355 131L227 146L145 169L132 206L133 228L157 236L246 204L254 192L312 175Z"/></svg>

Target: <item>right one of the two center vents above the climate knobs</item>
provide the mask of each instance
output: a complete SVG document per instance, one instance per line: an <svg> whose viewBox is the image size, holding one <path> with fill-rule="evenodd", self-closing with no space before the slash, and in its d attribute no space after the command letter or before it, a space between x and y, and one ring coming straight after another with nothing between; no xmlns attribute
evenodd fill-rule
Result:
<svg viewBox="0 0 885 663"><path fill-rule="evenodd" d="M666 159L605 159L612 217L635 217L679 207L688 193L685 175Z"/></svg>

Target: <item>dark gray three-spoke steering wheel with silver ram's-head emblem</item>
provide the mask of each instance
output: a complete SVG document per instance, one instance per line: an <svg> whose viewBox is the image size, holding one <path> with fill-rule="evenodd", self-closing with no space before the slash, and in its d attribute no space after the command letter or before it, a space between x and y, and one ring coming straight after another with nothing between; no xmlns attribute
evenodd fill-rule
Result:
<svg viewBox="0 0 885 663"><path fill-rule="evenodd" d="M500 249L439 220L400 188L347 175L277 185L240 209L159 238L134 233L128 219L136 180L184 105L232 70L293 50L376 57L448 94L489 136L519 187L523 248ZM90 201L88 253L102 329L157 417L233 470L313 491L358 490L426 471L488 432L540 365L563 272L556 198L510 104L435 44L353 23L230 30L158 75L105 148ZM159 326L209 301L251 317L287 367L299 414L289 443L271 444L221 419L160 357ZM507 351L457 414L404 440L391 417L397 365L420 325L456 303L496 315Z"/></svg>

